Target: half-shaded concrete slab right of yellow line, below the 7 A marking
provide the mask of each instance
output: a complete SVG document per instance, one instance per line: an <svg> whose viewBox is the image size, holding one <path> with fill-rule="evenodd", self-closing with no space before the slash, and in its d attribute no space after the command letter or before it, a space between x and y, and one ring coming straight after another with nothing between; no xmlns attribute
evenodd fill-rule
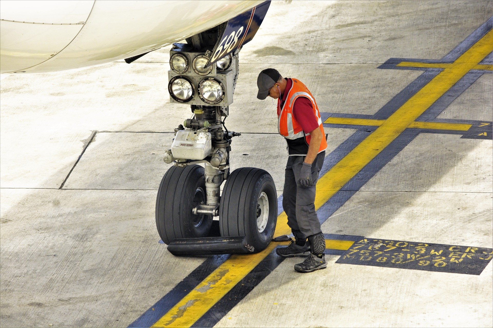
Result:
<svg viewBox="0 0 493 328"><path fill-rule="evenodd" d="M422 133L361 190L485 192L493 184L492 150L490 140Z"/></svg>

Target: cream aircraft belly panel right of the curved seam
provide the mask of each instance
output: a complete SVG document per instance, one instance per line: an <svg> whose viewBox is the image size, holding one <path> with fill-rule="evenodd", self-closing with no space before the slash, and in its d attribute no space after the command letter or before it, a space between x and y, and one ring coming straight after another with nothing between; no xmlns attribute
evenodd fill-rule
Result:
<svg viewBox="0 0 493 328"><path fill-rule="evenodd" d="M58 71L140 55L208 30L261 2L97 0L82 30L63 51L24 70ZM1 71L12 70L2 63Z"/></svg>

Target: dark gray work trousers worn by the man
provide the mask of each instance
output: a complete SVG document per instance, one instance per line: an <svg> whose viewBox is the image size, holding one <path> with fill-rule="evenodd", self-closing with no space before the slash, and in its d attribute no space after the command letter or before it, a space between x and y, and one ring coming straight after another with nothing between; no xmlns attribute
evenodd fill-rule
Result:
<svg viewBox="0 0 493 328"><path fill-rule="evenodd" d="M305 156L289 156L287 160L282 207L287 214L287 225L298 240L321 232L314 203L318 173L322 169L324 158L325 151L319 153L312 163L313 184L310 188L301 187L298 181Z"/></svg>

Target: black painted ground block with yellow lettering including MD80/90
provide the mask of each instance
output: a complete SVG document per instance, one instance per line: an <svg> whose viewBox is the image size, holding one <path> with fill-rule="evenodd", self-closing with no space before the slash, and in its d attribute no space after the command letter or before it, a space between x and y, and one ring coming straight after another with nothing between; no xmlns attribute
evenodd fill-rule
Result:
<svg viewBox="0 0 493 328"><path fill-rule="evenodd" d="M336 263L480 275L492 257L492 248L364 238Z"/></svg>

